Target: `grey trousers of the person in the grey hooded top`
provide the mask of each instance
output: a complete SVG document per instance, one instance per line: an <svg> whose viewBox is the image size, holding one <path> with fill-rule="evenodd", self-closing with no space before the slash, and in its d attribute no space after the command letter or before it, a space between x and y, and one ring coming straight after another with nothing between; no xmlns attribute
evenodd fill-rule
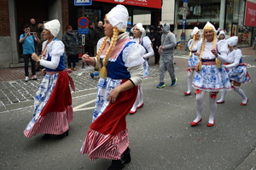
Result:
<svg viewBox="0 0 256 170"><path fill-rule="evenodd" d="M170 75L172 81L176 79L174 63L173 63L173 56L171 56L171 55L161 55L160 56L160 82L165 82L166 71L169 72L169 75Z"/></svg>

